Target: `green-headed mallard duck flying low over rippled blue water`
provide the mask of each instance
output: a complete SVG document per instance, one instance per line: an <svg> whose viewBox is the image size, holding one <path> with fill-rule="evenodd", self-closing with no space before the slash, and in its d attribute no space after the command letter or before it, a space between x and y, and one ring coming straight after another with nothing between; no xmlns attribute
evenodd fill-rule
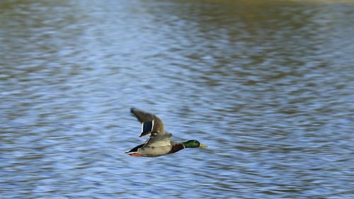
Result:
<svg viewBox="0 0 354 199"><path fill-rule="evenodd" d="M197 140L173 142L170 140L172 134L165 133L164 123L156 115L137 108L130 108L130 113L135 115L137 120L142 123L142 132L139 137L149 136L146 142L125 152L130 156L159 157L176 153L185 148L207 147L207 145L200 144Z"/></svg>

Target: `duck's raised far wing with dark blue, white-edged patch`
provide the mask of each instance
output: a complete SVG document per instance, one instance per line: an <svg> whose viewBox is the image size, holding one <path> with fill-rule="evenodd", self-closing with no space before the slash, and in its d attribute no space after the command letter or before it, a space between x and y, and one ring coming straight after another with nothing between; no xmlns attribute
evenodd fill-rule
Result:
<svg viewBox="0 0 354 199"><path fill-rule="evenodd" d="M130 113L135 115L137 120L142 123L142 132L139 137L164 134L164 123L160 120L160 118L157 118L156 115L147 113L137 108L130 108Z"/></svg>

